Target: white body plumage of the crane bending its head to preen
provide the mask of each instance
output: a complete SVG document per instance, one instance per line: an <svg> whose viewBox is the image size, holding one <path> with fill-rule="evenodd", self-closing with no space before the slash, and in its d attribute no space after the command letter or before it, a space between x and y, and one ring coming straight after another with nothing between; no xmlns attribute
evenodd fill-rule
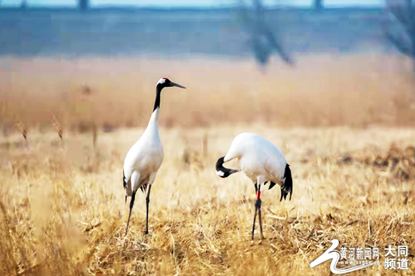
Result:
<svg viewBox="0 0 415 276"><path fill-rule="evenodd" d="M250 132L239 134L233 139L223 161L235 158L253 183L261 185L273 181L282 186L287 161L282 151L267 139Z"/></svg>

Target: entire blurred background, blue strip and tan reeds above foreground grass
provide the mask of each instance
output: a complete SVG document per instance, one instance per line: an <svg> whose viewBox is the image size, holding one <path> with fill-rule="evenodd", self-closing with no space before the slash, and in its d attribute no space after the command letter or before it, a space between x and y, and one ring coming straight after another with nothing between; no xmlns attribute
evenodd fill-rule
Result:
<svg viewBox="0 0 415 276"><path fill-rule="evenodd" d="M410 0L2 0L0 124L411 125ZM191 104L190 104L191 103Z"/></svg>

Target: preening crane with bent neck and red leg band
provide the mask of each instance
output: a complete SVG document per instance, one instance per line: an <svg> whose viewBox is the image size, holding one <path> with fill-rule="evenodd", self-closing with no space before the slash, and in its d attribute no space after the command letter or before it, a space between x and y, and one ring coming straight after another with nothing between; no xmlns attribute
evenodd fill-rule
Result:
<svg viewBox="0 0 415 276"><path fill-rule="evenodd" d="M257 200L255 201L255 216L252 225L252 240L254 239L255 219L259 215L259 228L261 229L261 239L264 239L262 233L261 221L261 184L270 182L268 188L271 189L278 184L281 186L281 198L279 201L286 199L288 193L293 195L293 178L291 177L290 165L284 157L284 154L267 139L255 133L244 132L234 138L228 153L216 162L216 174L225 178L239 170L233 170L223 167L223 163L237 158L241 170L254 183Z"/></svg>

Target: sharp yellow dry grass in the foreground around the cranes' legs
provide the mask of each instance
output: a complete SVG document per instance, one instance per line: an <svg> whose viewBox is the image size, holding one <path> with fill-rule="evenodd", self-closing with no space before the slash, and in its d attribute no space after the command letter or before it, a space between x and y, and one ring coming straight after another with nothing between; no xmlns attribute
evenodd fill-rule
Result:
<svg viewBox="0 0 415 276"><path fill-rule="evenodd" d="M261 244L259 233L250 241L252 183L214 172L247 130L273 141L293 170L291 201L279 202L278 188L264 190ZM412 275L415 130L162 128L150 233L139 195L124 237L122 161L141 132L104 133L95 149L91 134L69 135L63 145L55 133L34 132L30 145L17 134L1 140L2 275L328 275L328 263L308 265L331 239L380 248L380 266L359 275L394 274L383 268L383 248L407 245L410 270L398 273Z"/></svg>

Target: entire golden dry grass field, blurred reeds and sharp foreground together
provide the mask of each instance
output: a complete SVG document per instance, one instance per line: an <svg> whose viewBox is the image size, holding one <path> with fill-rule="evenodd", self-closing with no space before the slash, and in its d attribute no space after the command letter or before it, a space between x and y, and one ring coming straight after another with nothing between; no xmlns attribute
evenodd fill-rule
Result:
<svg viewBox="0 0 415 276"><path fill-rule="evenodd" d="M0 274L329 275L329 262L309 264L338 239L380 248L379 266L351 275L413 275L414 106L400 58L304 57L266 75L234 62L2 59ZM125 236L122 162L160 75L188 89L163 95L150 233L140 194ZM74 131L85 121L118 129L94 146ZM264 190L262 242L250 240L250 180L214 171L244 131L270 139L293 171L291 201ZM389 245L408 246L409 270L383 268Z"/></svg>

